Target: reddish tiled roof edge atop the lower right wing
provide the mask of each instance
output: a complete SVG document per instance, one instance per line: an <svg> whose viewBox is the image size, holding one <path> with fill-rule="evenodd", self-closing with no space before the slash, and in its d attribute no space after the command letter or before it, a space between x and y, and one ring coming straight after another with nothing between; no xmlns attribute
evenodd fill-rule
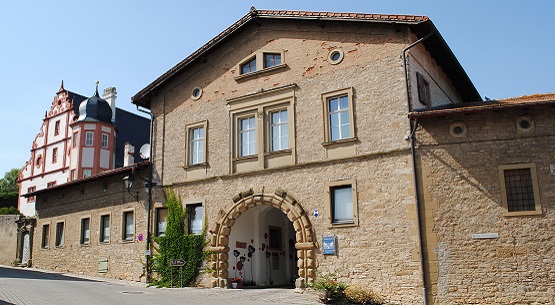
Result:
<svg viewBox="0 0 555 305"><path fill-rule="evenodd" d="M446 116L454 114L466 114L474 112L494 111L510 108L527 108L535 106L555 105L555 93L543 93L511 97L500 100L488 100L463 104L461 106L415 111L409 114L411 118Z"/></svg>

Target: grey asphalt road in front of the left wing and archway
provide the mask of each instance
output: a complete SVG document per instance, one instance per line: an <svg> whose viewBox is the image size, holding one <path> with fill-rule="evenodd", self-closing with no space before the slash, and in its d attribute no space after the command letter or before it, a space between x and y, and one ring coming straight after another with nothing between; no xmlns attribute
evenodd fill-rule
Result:
<svg viewBox="0 0 555 305"><path fill-rule="evenodd" d="M321 304L294 289L158 289L144 284L0 266L0 305Z"/></svg>

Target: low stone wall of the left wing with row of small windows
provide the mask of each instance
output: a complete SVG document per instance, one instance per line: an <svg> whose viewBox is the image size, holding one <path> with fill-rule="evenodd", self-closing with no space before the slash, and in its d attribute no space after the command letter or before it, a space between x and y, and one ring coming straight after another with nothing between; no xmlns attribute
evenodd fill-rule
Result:
<svg viewBox="0 0 555 305"><path fill-rule="evenodd" d="M37 194L33 266L59 272L144 280L147 200L142 183L135 183L130 193L123 188L123 177L132 175L132 171L132 167L121 168L101 177L75 181ZM146 177L146 171L138 170L133 175ZM133 198L135 194L138 200ZM133 213L133 237L130 240L124 238L124 212ZM101 241L103 215L110 216L107 242ZM89 219L88 243L82 239L82 219ZM63 223L63 242L57 246L59 223ZM48 229L47 241L45 228Z"/></svg>

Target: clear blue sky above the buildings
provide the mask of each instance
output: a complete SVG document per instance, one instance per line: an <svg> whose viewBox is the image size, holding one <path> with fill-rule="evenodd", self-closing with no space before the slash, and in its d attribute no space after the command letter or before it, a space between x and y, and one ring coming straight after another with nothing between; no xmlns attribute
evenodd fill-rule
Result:
<svg viewBox="0 0 555 305"><path fill-rule="evenodd" d="M258 9L426 15L480 95L553 92L555 1L281 0L0 3L0 177L30 157L54 94L114 86L118 106L208 40Z"/></svg>

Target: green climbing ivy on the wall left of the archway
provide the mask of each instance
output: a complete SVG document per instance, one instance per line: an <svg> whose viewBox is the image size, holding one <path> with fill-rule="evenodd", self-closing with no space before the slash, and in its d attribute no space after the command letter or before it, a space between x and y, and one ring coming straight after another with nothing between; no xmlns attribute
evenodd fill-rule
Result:
<svg viewBox="0 0 555 305"><path fill-rule="evenodd" d="M153 283L158 287L190 286L199 276L202 262L209 254L204 250L207 244L204 237L205 230L203 229L200 235L186 234L185 221L188 211L183 209L181 199L171 189L166 190L166 206L168 216L165 235L152 237L156 244L152 247L154 255L151 271L157 273L157 278ZM183 267L170 267L171 259L181 259L186 264Z"/></svg>

